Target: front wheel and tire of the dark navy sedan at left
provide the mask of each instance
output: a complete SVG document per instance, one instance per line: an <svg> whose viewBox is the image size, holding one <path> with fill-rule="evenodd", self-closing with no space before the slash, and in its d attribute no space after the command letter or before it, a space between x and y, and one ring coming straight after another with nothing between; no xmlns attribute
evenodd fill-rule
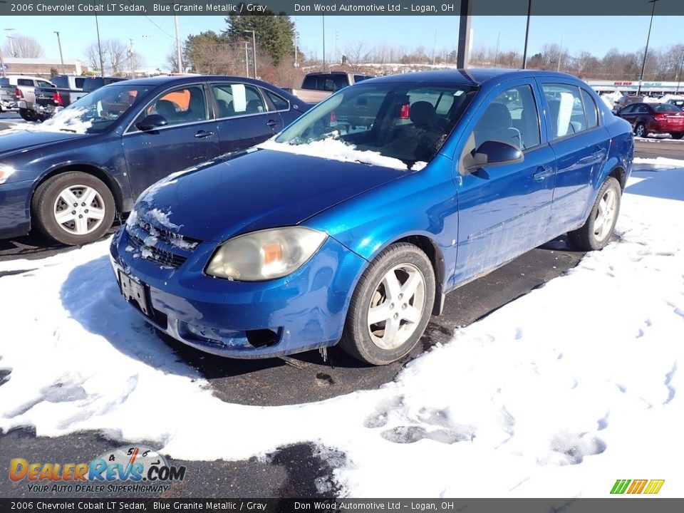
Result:
<svg viewBox="0 0 684 513"><path fill-rule="evenodd" d="M38 229L68 246L102 237L112 226L116 209L109 187L83 172L66 172L43 182L31 208Z"/></svg>

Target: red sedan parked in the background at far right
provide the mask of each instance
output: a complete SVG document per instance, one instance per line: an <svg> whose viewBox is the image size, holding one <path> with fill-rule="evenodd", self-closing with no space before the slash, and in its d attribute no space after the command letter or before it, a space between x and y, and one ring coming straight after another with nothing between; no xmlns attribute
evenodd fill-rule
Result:
<svg viewBox="0 0 684 513"><path fill-rule="evenodd" d="M627 120L636 137L649 133L668 133L673 139L684 135L684 112L670 103L633 103L616 114Z"/></svg>

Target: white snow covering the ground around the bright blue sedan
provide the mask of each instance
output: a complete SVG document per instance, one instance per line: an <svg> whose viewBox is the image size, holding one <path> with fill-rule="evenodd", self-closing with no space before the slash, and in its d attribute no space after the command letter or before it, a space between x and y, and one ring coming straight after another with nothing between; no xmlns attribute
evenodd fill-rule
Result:
<svg viewBox="0 0 684 513"><path fill-rule="evenodd" d="M393 383L321 403L214 397L121 298L108 242L1 262L33 270L0 278L0 428L102 430L187 460L314 442L346 455L351 497L606 497L617 479L683 497L684 161L649 163L628 182L620 242Z"/></svg>

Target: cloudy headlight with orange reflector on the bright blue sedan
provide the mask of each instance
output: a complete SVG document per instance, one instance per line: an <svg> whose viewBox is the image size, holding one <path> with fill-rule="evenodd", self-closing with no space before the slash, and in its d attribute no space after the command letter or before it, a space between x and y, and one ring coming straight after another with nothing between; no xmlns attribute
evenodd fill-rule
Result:
<svg viewBox="0 0 684 513"><path fill-rule="evenodd" d="M240 235L217 249L205 272L240 281L280 278L303 266L327 238L323 232L304 227L266 229Z"/></svg>

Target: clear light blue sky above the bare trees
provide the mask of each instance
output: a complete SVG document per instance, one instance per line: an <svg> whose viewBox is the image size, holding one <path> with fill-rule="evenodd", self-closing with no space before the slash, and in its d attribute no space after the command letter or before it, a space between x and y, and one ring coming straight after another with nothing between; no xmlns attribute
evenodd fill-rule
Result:
<svg viewBox="0 0 684 513"><path fill-rule="evenodd" d="M224 16L179 16L180 39L202 31L222 31ZM611 48L639 51L646 45L650 16L532 16L529 54L546 43L558 43L571 55L589 51L602 57ZM344 48L358 43L376 46L415 48L424 46L430 55L455 49L458 37L457 16L326 16L326 58L328 61ZM173 16L98 16L100 39L118 39L145 59L145 68L167 70L167 55L175 51ZM323 17L296 16L299 47L306 56L323 56ZM517 49L522 53L525 16L473 16L472 48L480 45L501 51ZM651 48L684 43L683 16L655 16ZM11 30L10 30L11 29ZM97 41L94 16L4 16L0 26L3 46L7 36L22 34L36 38L46 58L59 58L57 36L60 32L65 60L86 61L85 49ZM11 71L11 70L10 70Z"/></svg>

